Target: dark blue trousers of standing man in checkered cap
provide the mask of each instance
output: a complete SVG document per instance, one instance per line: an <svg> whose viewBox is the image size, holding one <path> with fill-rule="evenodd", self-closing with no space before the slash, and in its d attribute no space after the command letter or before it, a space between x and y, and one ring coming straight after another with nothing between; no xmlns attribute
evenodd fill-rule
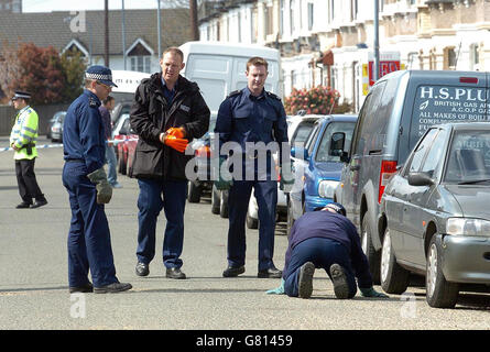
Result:
<svg viewBox="0 0 490 352"><path fill-rule="evenodd" d="M63 185L68 191L72 222L68 231L68 282L70 287L117 283L110 243L109 223L104 205L97 204L97 190L85 163L65 163Z"/></svg>

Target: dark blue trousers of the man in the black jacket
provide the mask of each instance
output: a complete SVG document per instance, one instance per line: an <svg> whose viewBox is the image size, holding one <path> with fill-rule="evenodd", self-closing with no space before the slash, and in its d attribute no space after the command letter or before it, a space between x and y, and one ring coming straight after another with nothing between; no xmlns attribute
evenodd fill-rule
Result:
<svg viewBox="0 0 490 352"><path fill-rule="evenodd" d="M138 198L138 262L150 264L155 256L156 220L164 209L166 228L163 241L163 263L181 267L179 258L184 244L184 210L187 199L186 180L139 179Z"/></svg>

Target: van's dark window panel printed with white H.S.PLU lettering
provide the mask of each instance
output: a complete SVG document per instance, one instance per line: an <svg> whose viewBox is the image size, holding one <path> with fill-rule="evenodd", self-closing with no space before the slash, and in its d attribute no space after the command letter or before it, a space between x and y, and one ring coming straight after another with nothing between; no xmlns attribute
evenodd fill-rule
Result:
<svg viewBox="0 0 490 352"><path fill-rule="evenodd" d="M483 87L420 86L413 108L411 135L417 141L433 124L489 121L487 94L488 89Z"/></svg>

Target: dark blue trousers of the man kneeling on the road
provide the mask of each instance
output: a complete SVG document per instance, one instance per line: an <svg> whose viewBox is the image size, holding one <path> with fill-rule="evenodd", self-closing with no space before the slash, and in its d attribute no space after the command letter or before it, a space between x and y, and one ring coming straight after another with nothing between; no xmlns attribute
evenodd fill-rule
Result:
<svg viewBox="0 0 490 352"><path fill-rule="evenodd" d="M290 264L287 268L284 268L283 276L285 277L284 292L287 296L297 297L300 270L306 262L312 262L316 268L324 268L330 279L330 265L337 263L342 266L349 285L349 297L356 296L357 285L349 251L340 242L325 238L307 239L293 249Z"/></svg>

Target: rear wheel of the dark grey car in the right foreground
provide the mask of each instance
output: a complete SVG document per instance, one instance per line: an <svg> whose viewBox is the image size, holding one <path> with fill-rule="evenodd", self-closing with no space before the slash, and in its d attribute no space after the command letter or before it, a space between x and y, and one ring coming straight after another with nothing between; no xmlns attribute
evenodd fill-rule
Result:
<svg viewBox="0 0 490 352"><path fill-rule="evenodd" d="M381 250L381 287L386 294L401 295L409 287L410 272L396 263L390 230L384 231Z"/></svg>

